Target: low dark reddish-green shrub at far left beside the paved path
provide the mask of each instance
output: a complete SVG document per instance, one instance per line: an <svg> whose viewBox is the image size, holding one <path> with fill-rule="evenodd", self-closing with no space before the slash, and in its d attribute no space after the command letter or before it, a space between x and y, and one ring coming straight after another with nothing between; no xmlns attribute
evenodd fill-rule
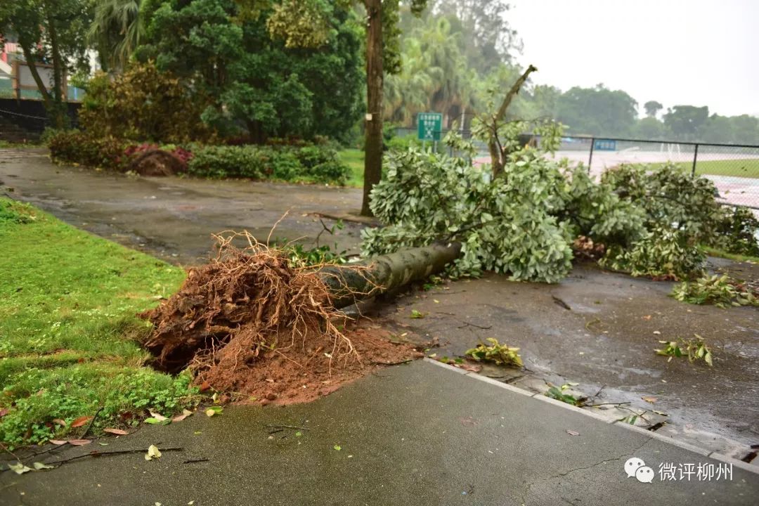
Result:
<svg viewBox="0 0 759 506"><path fill-rule="evenodd" d="M121 168L124 143L114 137L92 137L78 130L60 130L49 137L50 156L89 167Z"/></svg>

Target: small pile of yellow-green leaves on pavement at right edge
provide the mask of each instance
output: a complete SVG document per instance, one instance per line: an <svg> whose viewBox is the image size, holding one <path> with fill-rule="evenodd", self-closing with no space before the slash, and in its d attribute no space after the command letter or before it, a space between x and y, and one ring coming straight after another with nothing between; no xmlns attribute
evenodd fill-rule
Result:
<svg viewBox="0 0 759 506"><path fill-rule="evenodd" d="M759 306L759 294L728 275L705 275L672 288L672 297L689 304L717 307Z"/></svg>

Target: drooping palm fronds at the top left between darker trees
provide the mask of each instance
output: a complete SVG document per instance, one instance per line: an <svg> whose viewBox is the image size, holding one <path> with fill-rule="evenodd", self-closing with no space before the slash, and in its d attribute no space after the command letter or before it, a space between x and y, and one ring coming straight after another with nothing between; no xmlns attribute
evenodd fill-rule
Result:
<svg viewBox="0 0 759 506"><path fill-rule="evenodd" d="M142 0L97 0L95 19L87 34L99 52L103 70L124 68L144 35Z"/></svg>

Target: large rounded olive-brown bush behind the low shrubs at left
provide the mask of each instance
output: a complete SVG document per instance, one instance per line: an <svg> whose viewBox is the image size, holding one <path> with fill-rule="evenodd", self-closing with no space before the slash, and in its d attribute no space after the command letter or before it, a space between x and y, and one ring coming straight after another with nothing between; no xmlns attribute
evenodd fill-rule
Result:
<svg viewBox="0 0 759 506"><path fill-rule="evenodd" d="M115 77L100 72L87 83L79 124L93 137L184 143L206 140L200 121L206 99L153 61L132 64Z"/></svg>

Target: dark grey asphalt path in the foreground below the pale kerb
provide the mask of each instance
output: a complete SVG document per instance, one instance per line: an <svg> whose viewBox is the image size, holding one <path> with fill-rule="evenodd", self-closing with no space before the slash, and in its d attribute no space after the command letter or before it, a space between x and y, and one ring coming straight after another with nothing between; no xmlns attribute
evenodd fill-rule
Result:
<svg viewBox="0 0 759 506"><path fill-rule="evenodd" d="M269 435L265 425L308 430ZM4 471L0 504L698 506L756 504L759 495L759 475L742 463L421 361L383 369L312 404L228 407L221 416L197 414L101 441L109 445L51 452L46 461L152 444L184 450L153 461L122 454L22 476ZM626 475L631 457L652 468L653 482ZM671 465L675 479L660 479L660 464ZM713 470L711 479L695 473L699 465Z"/></svg>

